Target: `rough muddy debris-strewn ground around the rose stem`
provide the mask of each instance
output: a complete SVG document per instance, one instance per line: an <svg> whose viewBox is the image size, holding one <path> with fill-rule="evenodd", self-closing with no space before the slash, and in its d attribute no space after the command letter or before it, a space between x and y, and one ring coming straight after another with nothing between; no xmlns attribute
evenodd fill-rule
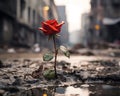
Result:
<svg viewBox="0 0 120 96"><path fill-rule="evenodd" d="M83 54L84 51L82 54L72 54L70 59L60 55L57 62L58 79L51 80L46 79L43 72L53 69L54 62L43 62L42 54L0 54L0 94L13 96L12 93L36 87L69 86L76 83L120 82L119 55L109 55L110 52L116 54L118 51L94 50L90 51L94 53L92 56ZM40 66L43 68L40 69Z"/></svg>

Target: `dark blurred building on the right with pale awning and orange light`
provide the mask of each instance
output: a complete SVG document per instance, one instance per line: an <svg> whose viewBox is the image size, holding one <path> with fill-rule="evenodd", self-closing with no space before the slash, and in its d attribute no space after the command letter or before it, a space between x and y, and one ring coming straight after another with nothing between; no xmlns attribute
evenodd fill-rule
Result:
<svg viewBox="0 0 120 96"><path fill-rule="evenodd" d="M91 0L90 22L99 39L120 41L120 0Z"/></svg>

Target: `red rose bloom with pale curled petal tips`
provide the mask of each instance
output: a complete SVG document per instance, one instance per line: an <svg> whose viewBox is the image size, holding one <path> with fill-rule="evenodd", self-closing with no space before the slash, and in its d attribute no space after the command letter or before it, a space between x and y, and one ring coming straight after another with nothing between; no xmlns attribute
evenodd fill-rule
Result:
<svg viewBox="0 0 120 96"><path fill-rule="evenodd" d="M42 30L45 35L54 35L61 31L61 27L64 21L58 23L55 19L42 22L42 27L38 28Z"/></svg>

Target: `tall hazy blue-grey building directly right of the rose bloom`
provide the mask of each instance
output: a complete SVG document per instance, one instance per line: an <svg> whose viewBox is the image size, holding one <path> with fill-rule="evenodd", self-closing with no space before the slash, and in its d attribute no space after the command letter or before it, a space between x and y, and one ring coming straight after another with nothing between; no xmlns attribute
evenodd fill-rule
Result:
<svg viewBox="0 0 120 96"><path fill-rule="evenodd" d="M65 24L62 26L60 33L60 41L63 45L67 45L69 42L69 33L68 33L68 22L66 17L66 7L65 6L57 6L59 21L64 21Z"/></svg>

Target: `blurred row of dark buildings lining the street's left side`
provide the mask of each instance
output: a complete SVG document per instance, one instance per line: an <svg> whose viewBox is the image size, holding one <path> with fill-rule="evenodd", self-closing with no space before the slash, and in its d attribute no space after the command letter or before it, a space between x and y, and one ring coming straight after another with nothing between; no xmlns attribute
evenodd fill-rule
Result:
<svg viewBox="0 0 120 96"><path fill-rule="evenodd" d="M39 43L51 47L42 32L40 22L58 19L54 0L1 0L0 45L31 47Z"/></svg>

